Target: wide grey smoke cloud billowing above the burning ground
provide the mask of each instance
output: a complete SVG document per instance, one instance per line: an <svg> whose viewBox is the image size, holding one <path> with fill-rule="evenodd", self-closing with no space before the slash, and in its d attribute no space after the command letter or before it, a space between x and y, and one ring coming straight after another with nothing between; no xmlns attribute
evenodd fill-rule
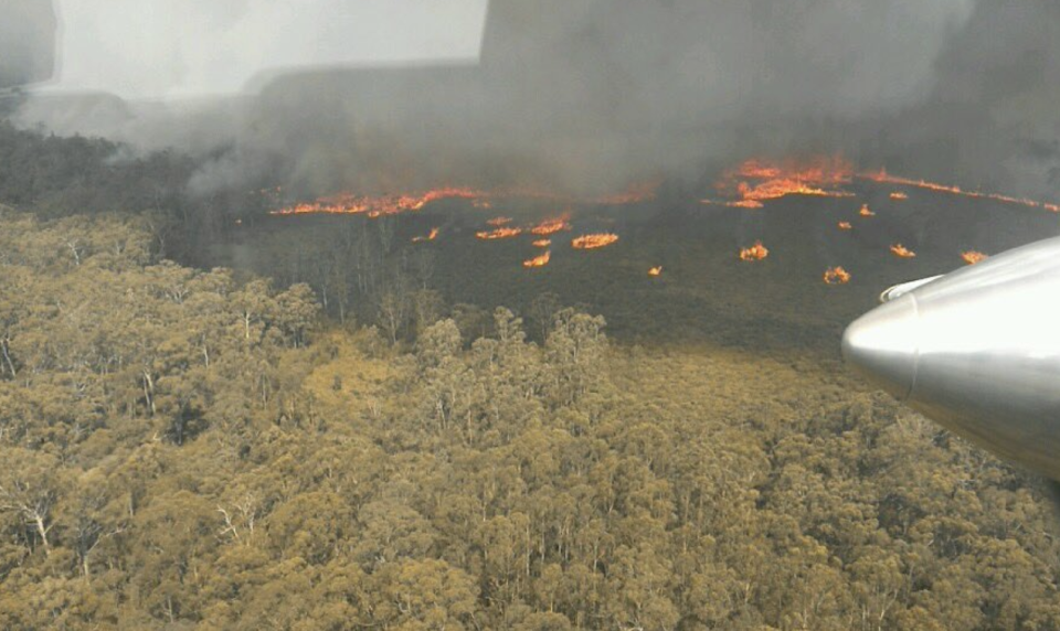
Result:
<svg viewBox="0 0 1060 631"><path fill-rule="evenodd" d="M204 156L197 192L695 179L755 153L1058 192L1060 6L1003 0L495 0L479 65L286 74L206 104L23 125ZM75 28L67 24L67 28ZM100 113L100 110L105 110Z"/></svg>

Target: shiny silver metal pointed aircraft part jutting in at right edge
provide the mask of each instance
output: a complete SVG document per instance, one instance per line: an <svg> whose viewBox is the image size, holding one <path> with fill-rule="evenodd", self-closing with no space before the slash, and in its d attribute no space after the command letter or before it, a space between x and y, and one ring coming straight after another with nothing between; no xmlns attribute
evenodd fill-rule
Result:
<svg viewBox="0 0 1060 631"><path fill-rule="evenodd" d="M851 363L955 434L1060 479L1060 238L943 276L895 302L848 329ZM878 360L883 352L890 355ZM881 379L887 371L873 361L901 378Z"/></svg>

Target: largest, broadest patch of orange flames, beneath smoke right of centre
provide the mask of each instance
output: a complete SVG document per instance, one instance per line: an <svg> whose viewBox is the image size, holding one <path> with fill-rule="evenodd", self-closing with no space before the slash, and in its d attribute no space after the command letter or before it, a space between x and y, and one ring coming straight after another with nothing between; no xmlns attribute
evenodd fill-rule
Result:
<svg viewBox="0 0 1060 631"><path fill-rule="evenodd" d="M748 160L725 171L716 184L722 195L734 200L703 200L703 203L761 208L763 202L787 195L852 197L854 193L840 188L849 183L852 177L854 168L841 158L819 157L805 163Z"/></svg>

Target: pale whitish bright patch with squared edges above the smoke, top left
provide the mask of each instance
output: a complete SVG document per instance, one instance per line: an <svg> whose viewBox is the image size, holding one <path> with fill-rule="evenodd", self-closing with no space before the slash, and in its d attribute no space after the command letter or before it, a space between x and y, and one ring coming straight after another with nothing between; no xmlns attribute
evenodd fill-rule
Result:
<svg viewBox="0 0 1060 631"><path fill-rule="evenodd" d="M57 0L61 89L240 92L261 71L476 60L487 0Z"/></svg>

